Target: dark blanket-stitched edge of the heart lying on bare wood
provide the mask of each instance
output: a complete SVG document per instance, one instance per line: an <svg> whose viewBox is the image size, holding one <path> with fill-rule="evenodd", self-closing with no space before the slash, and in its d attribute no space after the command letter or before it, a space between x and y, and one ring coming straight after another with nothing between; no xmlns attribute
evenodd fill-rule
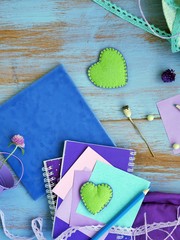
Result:
<svg viewBox="0 0 180 240"><path fill-rule="evenodd" d="M116 87L113 87L113 88L119 88L119 87L123 87L123 86L125 86L126 84L127 84L127 82L128 82L128 74L127 74L127 64L126 64L126 61L125 61L125 58L124 58L124 56L122 55L122 53L121 52L119 52L117 49L115 49L115 48L105 48L105 49L103 49L101 52L100 52L100 55L99 55L99 60L97 61L97 62L95 62L94 64L92 64L89 68L88 68L88 77L89 77L89 79L90 79L90 81L95 85L95 86L97 86L96 85L96 82L91 78L91 68L93 68L95 65L97 65L97 64L99 64L101 61L102 61L102 57L103 57L103 54L104 54L104 52L106 52L106 51L114 51L114 52L116 52L116 53L118 53L118 55L121 57L121 60L123 61L123 64L124 64L124 66L125 66L125 84L123 84L123 85L118 85L118 86L116 86ZM99 85L99 86L97 86L97 87L101 87L101 88L109 88L109 87L104 87L104 86L101 86L101 85Z"/></svg>

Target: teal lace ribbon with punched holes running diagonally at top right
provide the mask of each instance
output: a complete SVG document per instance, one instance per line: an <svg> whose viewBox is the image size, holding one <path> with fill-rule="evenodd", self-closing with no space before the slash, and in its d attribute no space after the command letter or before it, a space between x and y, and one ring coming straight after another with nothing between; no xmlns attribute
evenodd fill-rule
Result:
<svg viewBox="0 0 180 240"><path fill-rule="evenodd" d="M139 17L127 12L126 10L117 6L115 3L112 3L109 0L92 0L92 1L97 3L98 5L100 5L104 9L106 9L107 11L113 13L114 15L116 15L116 16L128 21L129 23L145 30L146 32L149 32L154 35L154 33L151 31L151 29L149 28L147 23L144 21L144 19L139 18ZM162 37L170 37L171 36L170 33L167 33L166 31L161 30L158 27L155 27L153 24L151 24L151 28ZM171 39L168 39L168 41L171 42ZM179 47L177 46L177 44L173 44L171 46L171 48L172 48L172 52L177 52L180 50Z"/></svg>

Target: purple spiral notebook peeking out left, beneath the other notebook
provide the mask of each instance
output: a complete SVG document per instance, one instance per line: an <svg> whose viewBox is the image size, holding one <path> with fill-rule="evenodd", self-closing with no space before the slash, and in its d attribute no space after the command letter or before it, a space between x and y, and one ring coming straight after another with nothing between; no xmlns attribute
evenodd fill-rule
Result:
<svg viewBox="0 0 180 240"><path fill-rule="evenodd" d="M62 158L54 158L43 161L43 177L52 220L54 219L57 201L57 196L52 192L52 189L59 182L61 160Z"/></svg>

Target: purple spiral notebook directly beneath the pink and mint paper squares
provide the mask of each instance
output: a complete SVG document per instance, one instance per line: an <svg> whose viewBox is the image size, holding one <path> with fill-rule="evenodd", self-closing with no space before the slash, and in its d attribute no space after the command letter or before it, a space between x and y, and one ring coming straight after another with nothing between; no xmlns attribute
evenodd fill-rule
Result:
<svg viewBox="0 0 180 240"><path fill-rule="evenodd" d="M63 177L65 175L68 169L75 163L75 161L79 158L79 156L84 152L87 147L91 147L114 167L127 172L133 172L136 152L132 149L123 149L68 140L65 141L64 144L60 177ZM56 208L58 208L61 203L62 199L58 198ZM53 226L53 238L58 237L67 228L69 228L69 225L55 216ZM77 231L70 239L83 240L88 238L83 233Z"/></svg>

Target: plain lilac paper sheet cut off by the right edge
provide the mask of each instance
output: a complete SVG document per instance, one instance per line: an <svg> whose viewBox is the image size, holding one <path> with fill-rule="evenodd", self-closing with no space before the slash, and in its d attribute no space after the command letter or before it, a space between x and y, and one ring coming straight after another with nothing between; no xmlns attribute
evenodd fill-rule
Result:
<svg viewBox="0 0 180 240"><path fill-rule="evenodd" d="M176 104L180 105L180 95L157 103L171 145L180 144L180 110L175 107ZM179 154L180 149L173 150L173 153Z"/></svg>

